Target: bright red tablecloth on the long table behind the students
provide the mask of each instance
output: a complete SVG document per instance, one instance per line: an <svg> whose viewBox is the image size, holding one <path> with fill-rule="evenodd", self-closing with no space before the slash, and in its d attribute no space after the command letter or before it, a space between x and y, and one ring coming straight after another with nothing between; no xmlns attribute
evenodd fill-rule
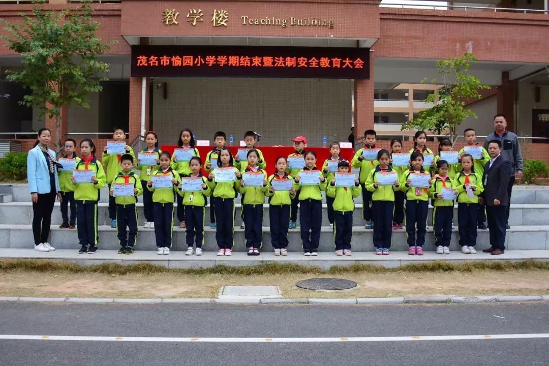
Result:
<svg viewBox="0 0 549 366"><path fill-rule="evenodd" d="M176 149L176 145L162 145L160 149L162 151L168 151L170 154L173 154L173 150ZM204 166L204 161L206 160L206 155L214 149L212 146L197 146L198 152L200 153L200 157L202 158L202 165ZM234 154L237 153L239 147L237 146L228 146L229 150ZM240 148L242 149L242 148ZM287 147L287 146L261 146L259 147L261 152L263 153L263 156L265 157L265 161L267 162L267 174L273 174L275 172L275 160L278 156L288 156L290 154L294 153L293 147ZM306 151L315 151L317 156L317 167L320 169L322 167L322 164L324 163L324 160L328 159L330 156L330 149L329 148L305 148ZM347 159L351 161L352 156L355 154L354 149L341 149L341 157L344 159ZM203 172L204 173L204 172Z"/></svg>

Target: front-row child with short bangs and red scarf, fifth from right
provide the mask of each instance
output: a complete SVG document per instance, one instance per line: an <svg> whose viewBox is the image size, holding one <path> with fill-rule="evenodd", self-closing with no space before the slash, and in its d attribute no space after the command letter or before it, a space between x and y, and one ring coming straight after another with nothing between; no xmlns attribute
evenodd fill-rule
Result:
<svg viewBox="0 0 549 366"><path fill-rule="evenodd" d="M349 162L338 162L338 173L349 173ZM335 173L333 174L335 177ZM350 256L352 239L352 213L355 211L355 200L360 196L360 183L355 179L354 187L335 187L335 178L330 179L326 196L334 199L334 241L335 255Z"/></svg>

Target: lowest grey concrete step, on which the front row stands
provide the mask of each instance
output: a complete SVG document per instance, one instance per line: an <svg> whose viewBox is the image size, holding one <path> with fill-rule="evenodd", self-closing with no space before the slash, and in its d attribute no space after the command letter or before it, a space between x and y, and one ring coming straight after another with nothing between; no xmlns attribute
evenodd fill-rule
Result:
<svg viewBox="0 0 549 366"><path fill-rule="evenodd" d="M483 252L477 255L452 252L450 255L437 255L425 252L423 256L409 256L406 252L391 252L389 256L376 256L372 252L353 252L352 256L335 256L333 252L320 253L316 257L305 257L301 252L288 252L288 256L274 256L271 251L259 256L248 256L243 252L234 252L231 257L217 257L215 252L204 252L202 256L186 256L184 252L172 251L170 255L156 255L152 251L135 251L132 255L119 255L115 250L98 250L95 254L79 254L76 249L37 252L32 249L0 249L0 260L32 258L76 263L80 266L92 264L117 263L131 265L151 263L167 268L207 268L223 266L257 266L267 263L292 263L301 266L317 266L329 269L332 266L351 266L369 264L373 266L400 267L412 263L445 262L462 263L465 261L549 261L549 250L506 250L505 254L492 256Z"/></svg>

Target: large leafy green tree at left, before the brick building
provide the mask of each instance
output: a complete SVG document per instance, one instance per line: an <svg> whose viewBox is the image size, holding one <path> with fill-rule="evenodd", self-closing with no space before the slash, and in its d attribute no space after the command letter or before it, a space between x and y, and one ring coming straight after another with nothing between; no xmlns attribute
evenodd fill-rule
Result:
<svg viewBox="0 0 549 366"><path fill-rule="evenodd" d="M99 22L92 20L93 9L84 3L71 10L46 10L44 1L33 2L32 15L19 14L20 23L0 19L6 26L7 47L23 56L20 71L8 72L9 81L29 88L19 104L40 108L40 116L55 118L56 147L61 144L61 108L72 103L89 108L86 95L100 92L98 77L109 65L98 61L110 44L96 36Z"/></svg>

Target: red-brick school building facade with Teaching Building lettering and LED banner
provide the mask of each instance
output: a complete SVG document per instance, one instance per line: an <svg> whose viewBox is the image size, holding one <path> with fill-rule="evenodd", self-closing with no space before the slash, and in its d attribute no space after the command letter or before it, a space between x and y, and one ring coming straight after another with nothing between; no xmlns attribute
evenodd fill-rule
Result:
<svg viewBox="0 0 549 366"><path fill-rule="evenodd" d="M31 5L0 1L0 17L15 21ZM110 137L127 128L130 142L154 129L174 144L183 127L197 139L217 130L262 135L260 145L346 141L369 128L390 137L433 88L435 61L470 52L471 71L492 86L470 101L479 135L503 113L519 136L549 137L549 12L547 0L472 0L445 7L385 7L379 0L155 1L92 4L98 36L117 41L101 59L110 64L91 109L63 110L61 134ZM77 7L51 0L48 8ZM0 30L3 32L3 30ZM20 56L0 41L0 139L31 140L25 132L54 121L16 100L24 89L4 80ZM411 115L412 114L412 115ZM16 136L14 133L19 133ZM547 141L532 144L533 157ZM537 142L545 142L538 144ZM541 145L541 146L539 146Z"/></svg>

